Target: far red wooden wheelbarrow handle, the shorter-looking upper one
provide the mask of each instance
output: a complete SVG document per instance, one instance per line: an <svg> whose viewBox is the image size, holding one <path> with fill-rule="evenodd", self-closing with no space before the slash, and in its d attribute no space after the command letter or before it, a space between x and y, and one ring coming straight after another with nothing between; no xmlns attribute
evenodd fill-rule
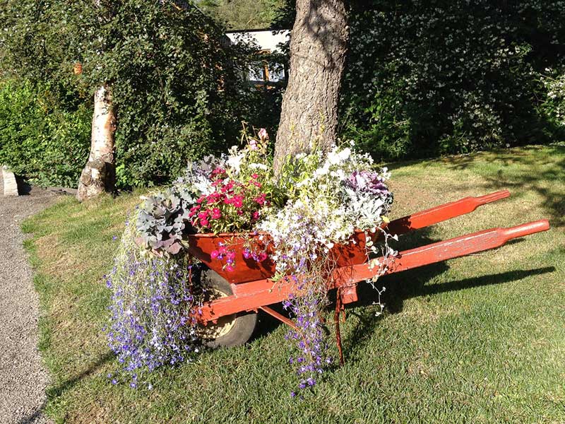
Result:
<svg viewBox="0 0 565 424"><path fill-rule="evenodd" d="M465 215L465 213L475 211L479 206L500 199L506 199L506 197L509 196L510 192L508 190L501 190L499 192L485 194L484 196L465 197L458 201L452 201L435 206L434 208L426 209L425 211L412 213L412 215L404 216L403 218L392 220L391 223L387 225L388 232L402 235L411 230L417 230L418 228L441 223L441 221L455 218L456 216Z"/></svg>

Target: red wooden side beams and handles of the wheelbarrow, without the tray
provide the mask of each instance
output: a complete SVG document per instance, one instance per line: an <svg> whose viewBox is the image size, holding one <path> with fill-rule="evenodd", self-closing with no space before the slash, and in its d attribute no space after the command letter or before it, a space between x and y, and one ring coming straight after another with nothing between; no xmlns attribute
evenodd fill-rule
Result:
<svg viewBox="0 0 565 424"><path fill-rule="evenodd" d="M510 196L510 192L503 190L486 196L466 197L459 201L436 206L425 211L414 213L388 224L388 232L391 234L403 235L406 232L424 228L444 220L461 216L475 211L476 208L484 204L491 203ZM414 269L419 266L434 264L436 262L463 257L484 250L496 249L501 247L509 240L535 232L549 229L547 220L537 220L522 225L509 228L491 228L474 232L472 234L454 237L449 240L432 243L430 245L416 247L415 249L400 252L391 261L384 274L396 273ZM341 266L333 271L333 275L328 278L328 290L339 288L340 300L342 303L357 301L357 284L366 281L379 273L379 264L383 264L383 258L372 259L363 264L352 264ZM219 298L211 302L206 302L196 317L202 324L215 322L218 318L236 314L238 312L251 312L263 310L280 321L294 327L293 322L272 310L268 305L273 305L289 296L299 296L297 293L296 282L291 276L286 276L279 281L270 279L260 279L245 283L231 284L233 295Z"/></svg>

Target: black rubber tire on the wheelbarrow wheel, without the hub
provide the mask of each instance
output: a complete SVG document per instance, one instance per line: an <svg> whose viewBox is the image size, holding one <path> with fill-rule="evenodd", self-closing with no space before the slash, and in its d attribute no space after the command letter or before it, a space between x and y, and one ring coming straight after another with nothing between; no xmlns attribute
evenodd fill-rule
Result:
<svg viewBox="0 0 565 424"><path fill-rule="evenodd" d="M202 271L201 282L205 288L218 290L228 296L233 294L230 283L211 269ZM242 346L242 344L246 343L257 325L256 312L240 312L236 314L234 320L234 325L227 334L222 334L217 338L209 338L205 341L206 346L214 349L229 348L232 346Z"/></svg>

